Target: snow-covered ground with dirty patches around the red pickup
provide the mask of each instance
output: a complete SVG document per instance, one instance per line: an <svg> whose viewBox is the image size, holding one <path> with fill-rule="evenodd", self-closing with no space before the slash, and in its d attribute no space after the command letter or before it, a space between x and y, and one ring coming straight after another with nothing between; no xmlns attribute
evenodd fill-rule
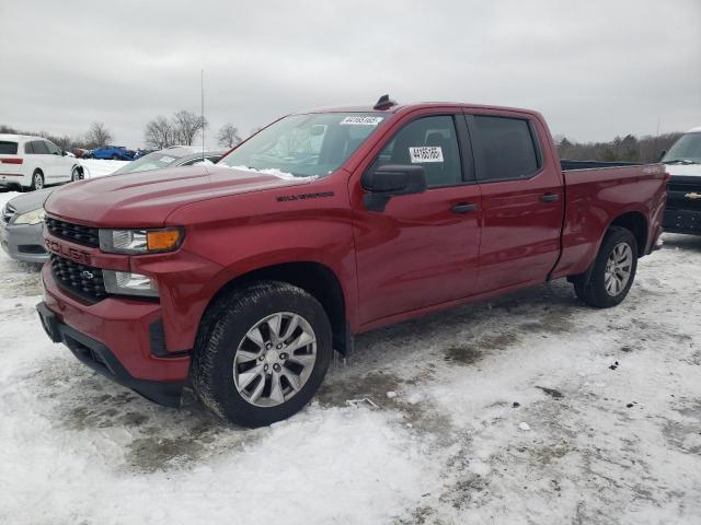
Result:
<svg viewBox="0 0 701 525"><path fill-rule="evenodd" d="M376 330L242 430L82 366L1 254L0 523L701 523L700 268L666 235L612 310L558 281Z"/></svg>

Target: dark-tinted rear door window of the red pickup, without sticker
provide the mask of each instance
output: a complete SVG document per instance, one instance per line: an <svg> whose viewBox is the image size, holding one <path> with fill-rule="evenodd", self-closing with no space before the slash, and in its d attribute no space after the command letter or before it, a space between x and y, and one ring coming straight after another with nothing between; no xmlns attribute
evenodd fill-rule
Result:
<svg viewBox="0 0 701 525"><path fill-rule="evenodd" d="M478 178L528 178L540 168L537 139L528 120L474 115L471 122Z"/></svg>

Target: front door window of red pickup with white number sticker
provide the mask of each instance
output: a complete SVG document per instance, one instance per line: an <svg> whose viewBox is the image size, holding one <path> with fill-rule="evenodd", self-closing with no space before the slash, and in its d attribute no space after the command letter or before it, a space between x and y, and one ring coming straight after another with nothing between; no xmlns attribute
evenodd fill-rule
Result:
<svg viewBox="0 0 701 525"><path fill-rule="evenodd" d="M417 118L404 126L380 152L376 166L417 164L429 188L462 183L460 149L452 117Z"/></svg>

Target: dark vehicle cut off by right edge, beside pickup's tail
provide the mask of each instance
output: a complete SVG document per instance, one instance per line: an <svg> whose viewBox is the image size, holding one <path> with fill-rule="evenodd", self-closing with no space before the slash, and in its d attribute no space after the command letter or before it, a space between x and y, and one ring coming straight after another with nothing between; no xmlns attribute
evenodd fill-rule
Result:
<svg viewBox="0 0 701 525"><path fill-rule="evenodd" d="M682 135L662 162L671 174L665 231L701 235L701 126Z"/></svg>

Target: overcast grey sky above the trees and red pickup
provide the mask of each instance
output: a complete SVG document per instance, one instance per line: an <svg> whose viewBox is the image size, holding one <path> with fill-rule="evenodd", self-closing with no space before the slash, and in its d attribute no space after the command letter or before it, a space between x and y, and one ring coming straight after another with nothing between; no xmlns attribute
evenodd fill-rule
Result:
<svg viewBox="0 0 701 525"><path fill-rule="evenodd" d="M299 109L459 101L538 109L553 135L701 126L701 0L0 0L0 124L139 147L159 114L207 142Z"/></svg>

